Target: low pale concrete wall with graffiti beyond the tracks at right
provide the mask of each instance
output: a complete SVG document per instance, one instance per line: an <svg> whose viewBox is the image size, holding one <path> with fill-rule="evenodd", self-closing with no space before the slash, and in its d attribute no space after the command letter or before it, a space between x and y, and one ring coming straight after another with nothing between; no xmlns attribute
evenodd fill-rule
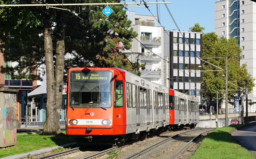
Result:
<svg viewBox="0 0 256 159"><path fill-rule="evenodd" d="M256 113L248 113L248 116L249 117L256 116ZM219 114L218 120L216 120L217 119L216 115L212 115L211 120L210 120L210 115L199 116L199 119L200 121L196 127L217 127L217 124L218 124L218 127L226 126L225 114ZM240 113L229 114L228 122L229 122L228 125L242 124L241 114Z"/></svg>

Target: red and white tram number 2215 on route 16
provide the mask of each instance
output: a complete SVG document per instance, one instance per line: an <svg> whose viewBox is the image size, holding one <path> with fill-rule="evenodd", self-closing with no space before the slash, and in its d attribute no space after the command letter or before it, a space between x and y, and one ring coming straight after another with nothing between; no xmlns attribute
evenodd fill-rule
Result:
<svg viewBox="0 0 256 159"><path fill-rule="evenodd" d="M199 121L198 98L122 69L71 68L68 76L66 133L80 141L118 144Z"/></svg>

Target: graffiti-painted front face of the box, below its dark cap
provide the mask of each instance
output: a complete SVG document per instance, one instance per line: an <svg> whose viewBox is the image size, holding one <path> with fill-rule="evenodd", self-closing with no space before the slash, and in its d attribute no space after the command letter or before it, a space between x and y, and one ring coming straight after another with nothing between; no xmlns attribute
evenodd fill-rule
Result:
<svg viewBox="0 0 256 159"><path fill-rule="evenodd" d="M16 95L4 94L3 142L4 145L16 144Z"/></svg>

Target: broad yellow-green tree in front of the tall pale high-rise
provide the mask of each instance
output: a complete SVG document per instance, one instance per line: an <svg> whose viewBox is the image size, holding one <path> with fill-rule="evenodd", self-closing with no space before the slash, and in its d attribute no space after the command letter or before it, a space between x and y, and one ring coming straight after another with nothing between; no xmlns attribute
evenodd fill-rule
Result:
<svg viewBox="0 0 256 159"><path fill-rule="evenodd" d="M226 39L225 37L218 38L214 32L206 33L203 35L203 57L226 57L228 56L228 89L242 91L228 91L229 99L233 98L235 93L241 95L245 91L245 80L248 81L248 92L252 91L254 86L254 79L247 72L246 65L240 66L239 60L241 59L241 49L237 45L236 38ZM226 70L226 59L204 59L205 61L214 64L224 70ZM203 70L221 70L216 66L213 66L206 62L203 62ZM203 72L203 90L209 102L216 100L216 93L218 91L219 96L225 94L226 78L225 71L211 71ZM232 85L232 84L234 85ZM237 87L238 85L239 87ZM219 101L220 103L221 101Z"/></svg>

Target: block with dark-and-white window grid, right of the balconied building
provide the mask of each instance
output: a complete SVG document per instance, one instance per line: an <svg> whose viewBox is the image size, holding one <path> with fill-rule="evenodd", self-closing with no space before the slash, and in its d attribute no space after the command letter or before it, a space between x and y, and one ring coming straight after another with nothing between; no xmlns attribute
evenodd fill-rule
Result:
<svg viewBox="0 0 256 159"><path fill-rule="evenodd" d="M164 32L164 59L170 61L164 66L164 85L188 95L195 95L201 101L202 33ZM202 101L201 101L202 102Z"/></svg>

